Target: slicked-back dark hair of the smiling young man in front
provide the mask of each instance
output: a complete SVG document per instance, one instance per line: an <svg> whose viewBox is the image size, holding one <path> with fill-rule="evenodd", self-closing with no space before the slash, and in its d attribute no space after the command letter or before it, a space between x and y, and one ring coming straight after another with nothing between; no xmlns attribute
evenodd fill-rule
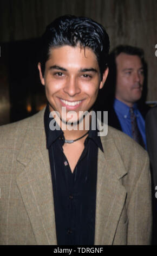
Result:
<svg viewBox="0 0 157 256"><path fill-rule="evenodd" d="M89 47L95 53L100 74L107 68L109 37L99 23L87 18L64 15L47 26L41 41L40 63L44 75L45 62L49 59L51 48L64 45Z"/></svg>

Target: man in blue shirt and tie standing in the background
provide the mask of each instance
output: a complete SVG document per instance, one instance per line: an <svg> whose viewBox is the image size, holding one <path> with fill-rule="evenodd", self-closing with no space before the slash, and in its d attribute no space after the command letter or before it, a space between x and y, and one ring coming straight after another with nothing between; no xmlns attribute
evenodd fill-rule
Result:
<svg viewBox="0 0 157 256"><path fill-rule="evenodd" d="M108 124L135 139L146 149L145 116L148 111L137 102L144 82L144 53L138 47L120 45L110 53L110 65L115 65L115 100L108 113ZM144 106L144 108L143 108Z"/></svg>

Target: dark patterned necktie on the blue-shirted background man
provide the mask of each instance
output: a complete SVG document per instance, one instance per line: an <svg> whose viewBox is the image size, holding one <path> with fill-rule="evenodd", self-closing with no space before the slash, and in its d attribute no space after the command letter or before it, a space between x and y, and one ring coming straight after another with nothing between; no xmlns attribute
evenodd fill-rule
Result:
<svg viewBox="0 0 157 256"><path fill-rule="evenodd" d="M131 119L131 124L132 124L132 136L133 136L133 139L136 142L138 142L145 149L145 143L143 142L141 133L139 131L133 107L130 107L130 119Z"/></svg>

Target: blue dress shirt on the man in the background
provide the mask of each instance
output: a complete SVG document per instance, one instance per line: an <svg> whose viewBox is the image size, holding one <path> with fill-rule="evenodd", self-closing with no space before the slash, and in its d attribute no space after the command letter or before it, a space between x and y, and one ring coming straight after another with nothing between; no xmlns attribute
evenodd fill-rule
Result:
<svg viewBox="0 0 157 256"><path fill-rule="evenodd" d="M117 115L117 118L120 121L122 131L125 132L127 135L129 135L131 138L133 138L129 106L127 106L125 103L115 99L113 107L114 107L114 111ZM143 119L140 111L138 110L138 107L137 107L136 103L134 104L133 108L134 108L134 113L136 115L136 121L137 121L137 124L138 124L138 127L139 127L139 131L141 133L143 142L145 143L145 146L146 146L146 149L147 149L145 120Z"/></svg>

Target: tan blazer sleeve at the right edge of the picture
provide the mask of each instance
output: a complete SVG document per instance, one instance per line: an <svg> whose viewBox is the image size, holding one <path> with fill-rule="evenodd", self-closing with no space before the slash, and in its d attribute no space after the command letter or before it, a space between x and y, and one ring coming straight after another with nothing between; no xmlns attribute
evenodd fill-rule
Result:
<svg viewBox="0 0 157 256"><path fill-rule="evenodd" d="M139 168L139 170L138 170ZM136 173L141 164L137 164ZM152 235L152 196L149 158L146 154L142 172L133 186L128 203L127 245L150 245Z"/></svg>

